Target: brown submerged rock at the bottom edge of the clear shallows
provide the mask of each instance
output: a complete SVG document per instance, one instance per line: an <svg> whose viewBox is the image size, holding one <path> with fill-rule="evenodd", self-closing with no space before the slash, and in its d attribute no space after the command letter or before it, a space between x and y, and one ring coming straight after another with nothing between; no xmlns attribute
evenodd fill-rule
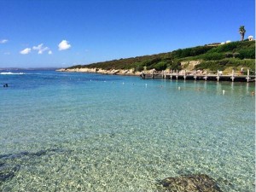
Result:
<svg viewBox="0 0 256 192"><path fill-rule="evenodd" d="M189 175L180 177L167 177L160 181L164 191L172 192L221 192L218 184L209 176Z"/></svg>

